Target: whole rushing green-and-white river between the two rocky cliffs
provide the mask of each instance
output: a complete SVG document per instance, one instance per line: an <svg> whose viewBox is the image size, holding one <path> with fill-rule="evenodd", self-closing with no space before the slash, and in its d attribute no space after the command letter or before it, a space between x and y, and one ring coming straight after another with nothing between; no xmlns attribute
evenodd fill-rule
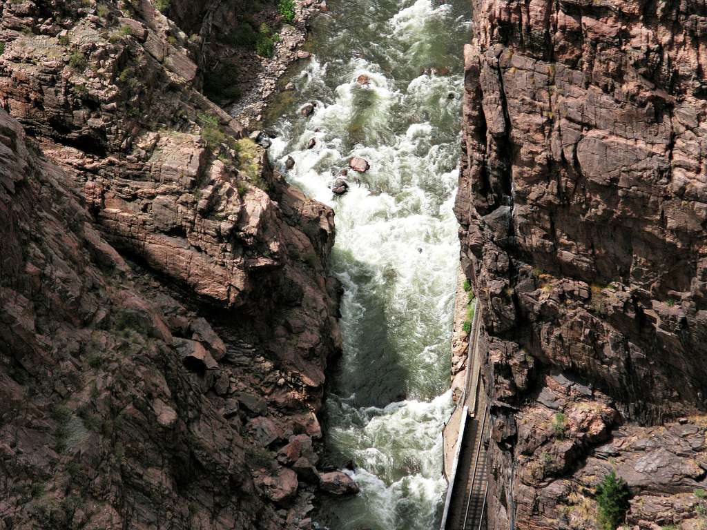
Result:
<svg viewBox="0 0 707 530"><path fill-rule="evenodd" d="M336 211L344 355L327 389L324 463L354 461L361 493L322 498L315 519L331 530L429 530L443 503L440 432L452 408L452 206L470 3L328 3L311 59L288 79L296 90L267 119L279 134L274 162ZM315 110L303 116L308 102ZM370 170L349 170L349 192L334 196L353 156Z"/></svg>

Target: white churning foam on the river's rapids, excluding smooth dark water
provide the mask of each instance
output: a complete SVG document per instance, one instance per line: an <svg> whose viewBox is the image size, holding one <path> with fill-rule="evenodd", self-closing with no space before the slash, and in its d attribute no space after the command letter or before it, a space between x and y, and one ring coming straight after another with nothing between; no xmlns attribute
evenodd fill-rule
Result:
<svg viewBox="0 0 707 530"><path fill-rule="evenodd" d="M362 13L375 5L358 1ZM416 43L433 45L428 24L448 16L450 7L434 7L431 0L399 4L397 14L383 21L390 35L375 46L403 61ZM328 64L313 57L305 73L298 83L317 98L315 110L281 122L284 136L273 139L270 155L283 170L292 157L288 181L336 212L332 266L344 286L344 377L369 369L370 353L356 337L375 310L367 297L375 295L385 306L387 334L399 348L407 389L407 399L384 407L357 406L358 398L366 400L356 389L351 396L329 396L327 443L358 464L351 475L361 487L358 497L346 501L342 528L429 529L446 488L441 429L451 394L436 385L448 377L444 355L459 252L452 212L458 138L442 138L438 124L458 115L458 100L448 94L461 93L462 76L424 73L404 86L362 57ZM368 84L357 83L358 76ZM315 146L308 149L312 138ZM330 187L353 156L368 160L370 169L360 175L349 170L349 191L334 196ZM431 389L440 395L433 397Z"/></svg>

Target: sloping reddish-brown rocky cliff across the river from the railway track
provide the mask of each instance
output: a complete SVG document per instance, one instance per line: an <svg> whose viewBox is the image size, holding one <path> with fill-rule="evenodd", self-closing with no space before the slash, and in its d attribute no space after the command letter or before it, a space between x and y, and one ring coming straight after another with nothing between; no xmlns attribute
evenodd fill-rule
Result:
<svg viewBox="0 0 707 530"><path fill-rule="evenodd" d="M307 528L332 211L201 94L208 42L150 2L0 17L0 106L37 142L2 113L3 524Z"/></svg>

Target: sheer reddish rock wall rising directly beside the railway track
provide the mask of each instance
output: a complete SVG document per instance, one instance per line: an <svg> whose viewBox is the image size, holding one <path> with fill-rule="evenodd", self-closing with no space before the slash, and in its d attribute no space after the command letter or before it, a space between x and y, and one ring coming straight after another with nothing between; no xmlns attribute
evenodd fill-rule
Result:
<svg viewBox="0 0 707 530"><path fill-rule="evenodd" d="M473 10L456 212L484 310L491 527L591 527L612 468L631 486L629 524L694 523L707 469L707 12Z"/></svg>

